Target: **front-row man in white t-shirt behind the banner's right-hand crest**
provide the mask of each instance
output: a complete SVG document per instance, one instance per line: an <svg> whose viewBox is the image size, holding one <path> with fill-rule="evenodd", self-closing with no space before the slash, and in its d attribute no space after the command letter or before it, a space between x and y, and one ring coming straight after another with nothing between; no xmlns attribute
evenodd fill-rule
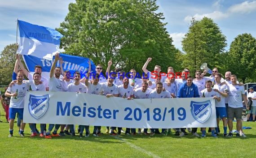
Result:
<svg viewBox="0 0 256 158"><path fill-rule="evenodd" d="M214 98L217 102L221 101L220 94L217 93L216 91L214 91L214 89L212 88L212 81L211 80L206 81L206 88L204 90L201 90L201 96L202 97ZM201 130L202 130L202 136L201 137L206 137L206 128L201 128ZM212 132L212 137L217 137L217 135L215 134L215 128L214 127L211 128L211 132Z"/></svg>

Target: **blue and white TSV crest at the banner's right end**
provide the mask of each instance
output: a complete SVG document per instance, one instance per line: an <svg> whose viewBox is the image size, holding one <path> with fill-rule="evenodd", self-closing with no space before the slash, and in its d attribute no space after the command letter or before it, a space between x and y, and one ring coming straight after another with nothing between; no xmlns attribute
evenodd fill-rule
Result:
<svg viewBox="0 0 256 158"><path fill-rule="evenodd" d="M205 123L212 114L212 104L210 100L205 102L190 102L191 113L195 120L200 123Z"/></svg>

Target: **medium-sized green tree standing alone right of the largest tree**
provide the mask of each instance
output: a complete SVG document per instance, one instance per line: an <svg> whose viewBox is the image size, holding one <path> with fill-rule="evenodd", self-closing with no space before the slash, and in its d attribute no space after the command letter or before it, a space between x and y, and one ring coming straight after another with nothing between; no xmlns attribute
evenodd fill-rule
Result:
<svg viewBox="0 0 256 158"><path fill-rule="evenodd" d="M211 18L203 17L201 21L192 18L189 31L181 42L185 51L183 67L190 68L191 72L203 63L207 63L209 68L220 68L220 56L227 45L226 37Z"/></svg>

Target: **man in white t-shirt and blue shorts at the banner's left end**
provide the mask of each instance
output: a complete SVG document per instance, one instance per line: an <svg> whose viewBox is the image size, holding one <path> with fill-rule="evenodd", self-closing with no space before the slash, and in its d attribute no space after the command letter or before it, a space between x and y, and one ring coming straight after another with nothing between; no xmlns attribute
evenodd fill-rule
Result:
<svg viewBox="0 0 256 158"><path fill-rule="evenodd" d="M23 123L23 110L24 110L24 99L27 90L29 89L29 83L23 83L24 75L22 72L18 72L17 81L14 85L9 86L5 92L5 96L11 97L9 105L9 137L13 137L13 124L16 113L21 120L20 136L24 137L25 123Z"/></svg>

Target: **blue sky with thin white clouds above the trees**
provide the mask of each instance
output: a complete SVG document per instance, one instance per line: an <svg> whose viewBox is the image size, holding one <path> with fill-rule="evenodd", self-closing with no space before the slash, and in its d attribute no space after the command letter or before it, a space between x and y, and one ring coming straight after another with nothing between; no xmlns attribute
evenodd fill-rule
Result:
<svg viewBox="0 0 256 158"><path fill-rule="evenodd" d="M68 4L75 0L4 0L0 3L0 51L16 43L16 20L32 24L59 27L68 13ZM238 34L256 37L256 0L157 0L159 12L173 44L182 50L181 40L188 31L190 20L210 17L220 27L230 43Z"/></svg>

